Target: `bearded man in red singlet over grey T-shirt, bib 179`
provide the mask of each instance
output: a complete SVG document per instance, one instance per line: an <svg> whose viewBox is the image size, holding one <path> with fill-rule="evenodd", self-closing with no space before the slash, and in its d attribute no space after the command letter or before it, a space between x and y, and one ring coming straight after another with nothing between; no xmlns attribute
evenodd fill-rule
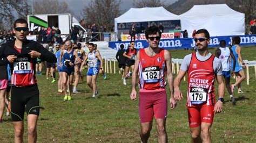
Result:
<svg viewBox="0 0 256 143"><path fill-rule="evenodd" d="M194 41L198 52L186 55L174 80L174 98L183 98L179 89L183 77L188 76L187 112L192 142L211 142L213 116L221 112L224 102L225 84L220 59L208 52L210 34L201 29L196 32ZM219 84L219 99L215 103L214 81ZM201 138L202 137L202 138Z"/></svg>

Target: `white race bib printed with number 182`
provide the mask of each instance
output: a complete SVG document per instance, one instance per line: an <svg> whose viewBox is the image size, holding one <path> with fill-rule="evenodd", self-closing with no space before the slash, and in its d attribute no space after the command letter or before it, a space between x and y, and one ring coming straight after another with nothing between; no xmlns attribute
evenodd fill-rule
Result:
<svg viewBox="0 0 256 143"><path fill-rule="evenodd" d="M158 66L143 68L142 75L145 83L155 83L160 81L160 69Z"/></svg>

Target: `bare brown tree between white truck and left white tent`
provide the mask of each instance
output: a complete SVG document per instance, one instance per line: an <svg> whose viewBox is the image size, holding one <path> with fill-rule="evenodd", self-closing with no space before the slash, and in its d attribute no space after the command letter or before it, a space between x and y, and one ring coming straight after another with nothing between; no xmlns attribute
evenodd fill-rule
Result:
<svg viewBox="0 0 256 143"><path fill-rule="evenodd" d="M120 0L94 0L83 9L86 23L106 26L110 30L114 18L120 16Z"/></svg>

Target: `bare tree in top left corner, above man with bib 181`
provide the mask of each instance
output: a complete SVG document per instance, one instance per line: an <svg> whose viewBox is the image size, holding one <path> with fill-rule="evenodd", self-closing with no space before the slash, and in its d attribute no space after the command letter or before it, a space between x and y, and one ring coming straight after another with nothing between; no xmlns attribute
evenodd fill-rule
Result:
<svg viewBox="0 0 256 143"><path fill-rule="evenodd" d="M0 5L0 20L5 30L10 30L16 18L25 18L30 12L25 0L0 0Z"/></svg>

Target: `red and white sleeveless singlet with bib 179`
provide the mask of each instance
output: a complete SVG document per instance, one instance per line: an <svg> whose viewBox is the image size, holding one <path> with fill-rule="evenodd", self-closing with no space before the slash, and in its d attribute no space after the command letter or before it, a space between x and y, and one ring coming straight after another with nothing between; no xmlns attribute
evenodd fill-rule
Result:
<svg viewBox="0 0 256 143"><path fill-rule="evenodd" d="M214 56L206 61L199 61L196 53L192 53L190 66L188 67L187 106L191 107L207 103L215 104L215 72L213 69Z"/></svg>

